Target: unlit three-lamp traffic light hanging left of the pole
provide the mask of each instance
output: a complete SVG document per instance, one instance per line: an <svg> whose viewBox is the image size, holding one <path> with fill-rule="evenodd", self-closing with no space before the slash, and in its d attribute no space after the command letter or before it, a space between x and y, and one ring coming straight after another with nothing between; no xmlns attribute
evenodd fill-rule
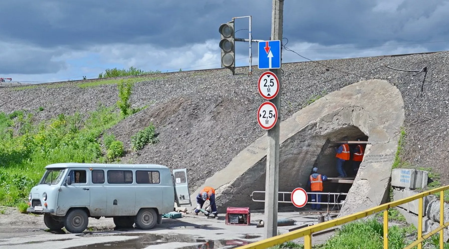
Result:
<svg viewBox="0 0 449 249"><path fill-rule="evenodd" d="M235 74L235 30L234 21L220 25L221 67L228 68Z"/></svg>

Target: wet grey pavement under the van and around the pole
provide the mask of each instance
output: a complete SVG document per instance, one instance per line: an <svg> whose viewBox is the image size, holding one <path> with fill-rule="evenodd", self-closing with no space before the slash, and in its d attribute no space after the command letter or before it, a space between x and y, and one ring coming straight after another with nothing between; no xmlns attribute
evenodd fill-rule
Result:
<svg viewBox="0 0 449 249"><path fill-rule="evenodd" d="M223 215L224 216L224 215ZM278 231L317 223L317 215L298 212L278 214L279 219L294 219L295 225L278 226ZM251 225L226 225L224 217L207 219L201 215L183 215L179 219L163 219L161 225L152 230L134 228L114 229L112 227L90 227L81 234L59 231L43 232L44 228L32 236L14 236L0 240L0 249L216 249L236 248L263 239L264 228L257 224L264 219L263 213L251 214ZM314 236L314 243L325 241L331 234ZM301 242L301 240L296 240Z"/></svg>

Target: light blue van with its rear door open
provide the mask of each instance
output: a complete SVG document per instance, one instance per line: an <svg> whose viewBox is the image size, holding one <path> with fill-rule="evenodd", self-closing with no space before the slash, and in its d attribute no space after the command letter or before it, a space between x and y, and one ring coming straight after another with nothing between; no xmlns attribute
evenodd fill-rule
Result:
<svg viewBox="0 0 449 249"><path fill-rule="evenodd" d="M27 212L50 229L83 232L88 217L152 229L177 206L191 206L187 170L157 164L55 163L31 189Z"/></svg>

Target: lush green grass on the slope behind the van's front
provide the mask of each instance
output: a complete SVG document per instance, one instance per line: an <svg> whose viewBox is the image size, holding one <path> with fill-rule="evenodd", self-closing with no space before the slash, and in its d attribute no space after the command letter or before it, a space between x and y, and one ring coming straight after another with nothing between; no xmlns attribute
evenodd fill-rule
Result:
<svg viewBox="0 0 449 249"><path fill-rule="evenodd" d="M31 119L23 111L0 113L0 205L22 205L48 164L106 161L98 137L123 116L115 106L99 106L86 116L60 114L39 124Z"/></svg>

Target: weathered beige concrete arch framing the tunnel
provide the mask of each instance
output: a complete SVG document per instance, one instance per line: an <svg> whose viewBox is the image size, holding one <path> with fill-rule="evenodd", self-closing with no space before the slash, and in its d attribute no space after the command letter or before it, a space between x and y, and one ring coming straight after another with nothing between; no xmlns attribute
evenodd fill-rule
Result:
<svg viewBox="0 0 449 249"><path fill-rule="evenodd" d="M385 80L357 82L321 97L280 124L279 191L304 188L316 163L322 164L318 165L321 172L331 174L335 161L326 166L322 159L333 158L329 157L329 148L325 148L326 141L365 135L370 144L365 148L364 159L340 215L382 204L387 197L404 119L401 92ZM220 213L225 213L228 206L264 209L263 202L252 201L251 193L265 189L267 143L265 133L235 156L227 167L209 177L191 194L192 207L196 206L198 192L204 186L211 186L216 189Z"/></svg>

